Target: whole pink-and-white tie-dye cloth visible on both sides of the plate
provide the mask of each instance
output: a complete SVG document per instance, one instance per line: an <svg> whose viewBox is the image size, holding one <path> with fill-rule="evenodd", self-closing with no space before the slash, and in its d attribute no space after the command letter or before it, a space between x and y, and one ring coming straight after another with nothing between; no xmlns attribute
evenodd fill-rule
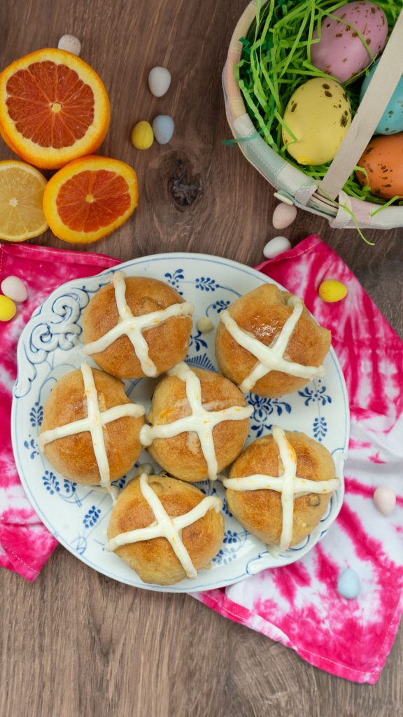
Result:
<svg viewBox="0 0 403 717"><path fill-rule="evenodd" d="M1 246L0 278L22 276L29 303L0 329L0 565L34 580L55 546L38 523L16 475L9 435L11 386L19 333L35 306L62 282L114 265L109 257L57 252L42 247ZM313 665L356 682L376 682L392 647L403 593L403 361L402 342L348 267L319 237L257 267L303 296L331 328L351 400L351 442L346 463L346 500L328 535L298 563L247 580L194 594L225 617L293 647ZM324 304L317 295L324 278L349 288L349 299ZM397 508L384 518L372 501L374 488L389 485ZM338 574L351 567L361 593L343 599Z"/></svg>

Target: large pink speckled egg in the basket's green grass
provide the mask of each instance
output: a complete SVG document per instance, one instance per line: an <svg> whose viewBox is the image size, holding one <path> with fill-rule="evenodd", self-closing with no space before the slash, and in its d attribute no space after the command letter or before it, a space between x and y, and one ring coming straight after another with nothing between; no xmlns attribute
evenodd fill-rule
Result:
<svg viewBox="0 0 403 717"><path fill-rule="evenodd" d="M369 44L374 57L377 57L387 42L387 16L378 5L364 0L349 2L332 14L335 17L323 19L321 39L312 44L310 57L312 64L319 70L337 77L340 82L347 82L372 62L357 30ZM316 30L313 39L317 37Z"/></svg>

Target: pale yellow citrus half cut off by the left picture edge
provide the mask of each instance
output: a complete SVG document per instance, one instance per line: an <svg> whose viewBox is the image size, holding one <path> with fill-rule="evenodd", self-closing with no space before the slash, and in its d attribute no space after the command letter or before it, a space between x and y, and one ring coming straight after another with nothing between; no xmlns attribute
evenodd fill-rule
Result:
<svg viewBox="0 0 403 717"><path fill-rule="evenodd" d="M45 186L44 176L29 164L0 162L0 239L23 242L46 232Z"/></svg>

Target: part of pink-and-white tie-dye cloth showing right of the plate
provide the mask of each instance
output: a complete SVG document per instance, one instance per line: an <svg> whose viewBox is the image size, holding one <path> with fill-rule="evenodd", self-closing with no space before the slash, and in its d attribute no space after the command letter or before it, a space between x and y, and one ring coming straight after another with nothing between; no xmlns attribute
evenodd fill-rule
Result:
<svg viewBox="0 0 403 717"><path fill-rule="evenodd" d="M375 683L403 609L403 344L358 280L319 237L257 267L300 295L331 329L350 397L346 498L336 523L308 555L203 594L204 604L293 647L312 665L354 682ZM318 297L325 279L342 281L346 301ZM397 493L388 518L372 496ZM356 571L361 592L338 594L338 575Z"/></svg>

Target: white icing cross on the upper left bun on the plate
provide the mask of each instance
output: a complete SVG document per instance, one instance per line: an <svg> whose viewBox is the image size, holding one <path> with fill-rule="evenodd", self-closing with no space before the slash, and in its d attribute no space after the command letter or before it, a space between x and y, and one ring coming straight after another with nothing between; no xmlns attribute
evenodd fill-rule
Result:
<svg viewBox="0 0 403 717"><path fill-rule="evenodd" d="M156 365L150 359L150 356L148 356L148 343L143 336L143 331L146 328L156 328L160 323L163 323L163 321L173 316L192 315L194 305L189 301L184 301L180 304L172 304L166 309L151 311L151 313L143 314L142 316L133 316L125 299L126 284L124 272L115 272L112 283L115 289L115 300L120 321L116 326L111 328L110 331L107 331L104 336L98 338L97 341L87 343L87 345L84 346L84 352L87 356L91 356L93 353L100 353L101 351L105 351L105 348L108 348L108 346L120 338L120 336L127 336L140 361L143 374L146 374L146 376L158 376Z"/></svg>

